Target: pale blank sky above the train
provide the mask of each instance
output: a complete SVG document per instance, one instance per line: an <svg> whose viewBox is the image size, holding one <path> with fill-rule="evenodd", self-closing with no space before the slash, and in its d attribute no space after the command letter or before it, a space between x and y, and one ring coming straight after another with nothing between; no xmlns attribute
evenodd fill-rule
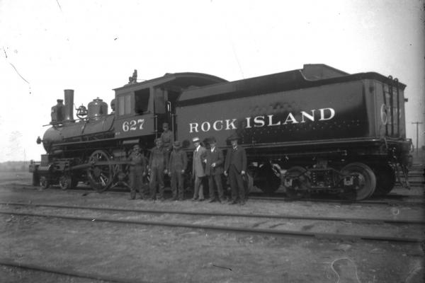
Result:
<svg viewBox="0 0 425 283"><path fill-rule="evenodd" d="M110 103L134 69L138 79L194 71L234 81L323 63L392 75L407 84L416 146L424 23L424 0L0 0L0 162L40 160L35 139L64 89L77 106Z"/></svg>

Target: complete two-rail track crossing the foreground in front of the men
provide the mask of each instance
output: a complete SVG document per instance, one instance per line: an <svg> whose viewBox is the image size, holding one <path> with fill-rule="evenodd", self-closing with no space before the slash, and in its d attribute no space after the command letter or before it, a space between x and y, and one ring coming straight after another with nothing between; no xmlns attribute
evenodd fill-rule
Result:
<svg viewBox="0 0 425 283"><path fill-rule="evenodd" d="M421 243L424 242L424 238L421 237L404 237L404 236L376 236L365 235L360 233L323 233L323 232L314 232L314 231L296 231L296 230L285 230L278 229L280 224L274 224L272 228L261 229L254 228L251 226L246 227L246 224L249 223L242 221L242 226L239 224L235 225L219 225L219 224L197 224L193 223L193 219L186 219L186 221L181 221L178 218L178 221L153 221L153 220L140 220L140 219L128 219L128 215L125 216L125 219L116 216L116 212L124 214L168 214L168 215L181 215L186 214L190 216L196 216L198 219L195 219L195 222L200 221L200 217L209 216L212 217L212 222L217 223L223 220L228 219L296 219L296 220L310 220L310 221L337 221L337 222L351 222L359 223L365 225L370 224L390 224L390 225L411 225L411 226L423 226L425 222L422 220L411 220L411 219L361 219L361 218L348 218L348 217L320 217L320 216L296 216L296 215L269 215L269 214L234 214L234 213L220 213L220 212L182 212L175 210L160 210L160 209L126 209L126 208L104 208L104 207L77 207L77 206L64 206L57 204L23 204L23 203L11 203L11 202L2 202L2 205L10 207L26 207L30 209L38 207L46 207L50 209L57 209L54 214L46 213L34 213L34 212L16 212L16 211L0 211L0 214L7 214L13 216L32 216L32 217L44 217L49 219L65 219L73 221L92 221L92 222L106 222L111 224L135 224L143 226L166 226L172 228L186 228L186 229L204 229L207 231L219 231L219 232L228 232L228 233L248 233L248 234L261 234L267 236L295 236L295 237L307 237L307 238L328 238L328 239L346 239L351 241L389 241L395 243ZM78 216L69 216L62 215L64 212L60 212L61 209L72 209L79 210ZM96 211L101 212L100 215L90 216L81 216L80 214L86 214L84 211ZM106 214L113 212L113 217L107 216ZM73 212L74 214L75 212ZM134 216L134 215L133 215ZM222 219L218 219L218 218ZM263 221L264 222L264 221ZM227 223L227 222L225 222ZM261 223L261 222L260 222ZM254 222L254 226L258 227L258 221Z"/></svg>

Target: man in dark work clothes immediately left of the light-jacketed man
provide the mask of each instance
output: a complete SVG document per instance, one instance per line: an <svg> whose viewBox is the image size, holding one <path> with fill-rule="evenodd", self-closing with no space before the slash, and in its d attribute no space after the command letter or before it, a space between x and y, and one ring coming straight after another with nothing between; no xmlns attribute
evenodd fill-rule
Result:
<svg viewBox="0 0 425 283"><path fill-rule="evenodd" d="M186 152L181 150L180 141L174 141L173 151L171 151L170 160L168 163L168 171L171 177L171 191L173 192L172 200L183 200L183 174L188 166L188 157ZM179 190L177 190L179 183Z"/></svg>

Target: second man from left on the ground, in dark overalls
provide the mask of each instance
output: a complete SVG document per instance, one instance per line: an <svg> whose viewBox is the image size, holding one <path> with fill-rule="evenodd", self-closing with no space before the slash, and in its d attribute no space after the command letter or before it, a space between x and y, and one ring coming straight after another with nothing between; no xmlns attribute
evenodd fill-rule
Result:
<svg viewBox="0 0 425 283"><path fill-rule="evenodd" d="M164 200L164 174L167 173L168 151L162 146L162 139L155 140L155 147L149 156L150 170L150 198L155 200L157 196L157 183L159 185L158 200Z"/></svg>

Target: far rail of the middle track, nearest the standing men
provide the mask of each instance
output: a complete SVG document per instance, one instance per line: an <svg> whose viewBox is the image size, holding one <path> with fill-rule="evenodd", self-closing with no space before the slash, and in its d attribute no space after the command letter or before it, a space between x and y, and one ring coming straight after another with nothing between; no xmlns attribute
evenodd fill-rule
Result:
<svg viewBox="0 0 425 283"><path fill-rule="evenodd" d="M387 223L387 224L416 224L425 225L425 220L403 220L403 219L366 219L366 218L351 218L351 217L326 217L326 216L298 216L291 214L241 214L227 212L183 212L181 210L159 210L159 209L127 209L127 208L108 208L108 207L81 207L72 205L60 204L25 204L20 202L0 202L3 205L16 205L26 207L52 207L63 209L87 209L97 211L110 212L142 212L146 214L186 214L196 216L229 216L229 217L246 217L246 218L270 218L270 219L298 219L298 220L315 220L315 221L348 221L348 222L366 222L370 223Z"/></svg>

